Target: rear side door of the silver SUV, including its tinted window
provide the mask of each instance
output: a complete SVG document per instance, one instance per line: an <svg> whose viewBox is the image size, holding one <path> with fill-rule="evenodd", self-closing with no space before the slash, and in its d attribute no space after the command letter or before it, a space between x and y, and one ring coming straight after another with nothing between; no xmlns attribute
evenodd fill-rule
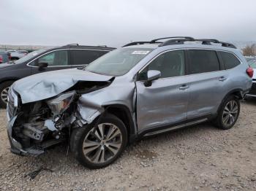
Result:
<svg viewBox="0 0 256 191"><path fill-rule="evenodd" d="M227 73L214 50L187 50L189 55L188 120L215 114L225 95Z"/></svg>

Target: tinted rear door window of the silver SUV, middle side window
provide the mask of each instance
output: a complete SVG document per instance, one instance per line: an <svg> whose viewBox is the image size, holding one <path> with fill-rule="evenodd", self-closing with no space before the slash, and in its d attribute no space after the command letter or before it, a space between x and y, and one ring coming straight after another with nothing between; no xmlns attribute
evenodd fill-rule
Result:
<svg viewBox="0 0 256 191"><path fill-rule="evenodd" d="M214 50L189 50L189 74L219 71L219 59Z"/></svg>

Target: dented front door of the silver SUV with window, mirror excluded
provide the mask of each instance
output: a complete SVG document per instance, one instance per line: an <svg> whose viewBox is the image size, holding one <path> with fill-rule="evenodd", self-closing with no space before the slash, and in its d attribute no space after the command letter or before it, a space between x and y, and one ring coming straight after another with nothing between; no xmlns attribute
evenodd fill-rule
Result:
<svg viewBox="0 0 256 191"><path fill-rule="evenodd" d="M148 70L161 71L161 77L146 87ZM164 52L138 74L138 131L187 120L189 76L185 75L184 50Z"/></svg>

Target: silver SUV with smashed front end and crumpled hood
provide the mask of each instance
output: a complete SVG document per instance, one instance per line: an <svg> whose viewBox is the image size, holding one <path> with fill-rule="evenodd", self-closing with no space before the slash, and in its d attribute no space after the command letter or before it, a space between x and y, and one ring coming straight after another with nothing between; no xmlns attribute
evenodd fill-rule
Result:
<svg viewBox="0 0 256 191"><path fill-rule="evenodd" d="M215 39L132 42L86 68L16 81L7 106L11 151L40 155L68 142L81 164L102 168L143 136L207 120L229 129L252 74L233 44Z"/></svg>

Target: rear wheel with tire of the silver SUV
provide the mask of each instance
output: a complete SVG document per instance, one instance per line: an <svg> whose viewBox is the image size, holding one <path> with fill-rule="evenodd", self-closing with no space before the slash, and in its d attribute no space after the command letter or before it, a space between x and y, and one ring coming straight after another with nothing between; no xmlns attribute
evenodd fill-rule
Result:
<svg viewBox="0 0 256 191"><path fill-rule="evenodd" d="M228 96L222 103L215 124L224 130L233 128L240 113L240 101L234 95Z"/></svg>

